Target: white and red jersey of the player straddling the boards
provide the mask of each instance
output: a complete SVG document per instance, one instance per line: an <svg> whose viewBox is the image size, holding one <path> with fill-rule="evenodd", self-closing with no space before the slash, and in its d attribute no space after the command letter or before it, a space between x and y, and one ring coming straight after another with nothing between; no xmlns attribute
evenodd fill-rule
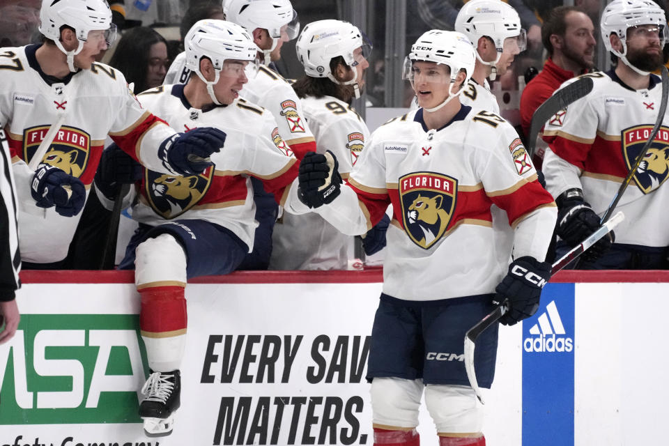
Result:
<svg viewBox="0 0 669 446"><path fill-rule="evenodd" d="M265 190L284 204L297 176L297 160L266 110L243 99L206 111L194 109L183 87L159 86L138 98L146 109L181 132L220 128L226 133L225 144L211 156L215 167L200 175L175 176L146 169L132 217L151 226L173 219L206 220L233 231L250 250L257 222L249 176L262 180Z"/></svg>

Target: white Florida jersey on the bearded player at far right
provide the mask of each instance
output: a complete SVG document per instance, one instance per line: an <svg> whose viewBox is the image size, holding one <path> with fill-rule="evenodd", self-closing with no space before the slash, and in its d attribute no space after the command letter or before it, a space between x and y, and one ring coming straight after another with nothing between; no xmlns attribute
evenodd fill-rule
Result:
<svg viewBox="0 0 669 446"><path fill-rule="evenodd" d="M657 118L662 88L651 75L649 89L635 91L615 72L594 72L592 91L553 116L544 130L546 184L553 197L578 187L598 215L606 212ZM575 79L578 79L575 78ZM574 79L562 84L574 82ZM666 247L669 226L669 111L632 182L617 205L625 220L615 243Z"/></svg>

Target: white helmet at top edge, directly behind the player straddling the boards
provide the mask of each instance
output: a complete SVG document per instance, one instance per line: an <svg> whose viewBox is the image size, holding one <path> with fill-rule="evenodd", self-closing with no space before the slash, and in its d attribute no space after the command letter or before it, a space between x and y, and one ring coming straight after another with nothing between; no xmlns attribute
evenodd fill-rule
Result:
<svg viewBox="0 0 669 446"><path fill-rule="evenodd" d="M223 0L223 14L225 20L244 26L251 35L256 28L267 30L272 47L262 50L266 64L279 40L293 40L300 32L298 13L290 0Z"/></svg>

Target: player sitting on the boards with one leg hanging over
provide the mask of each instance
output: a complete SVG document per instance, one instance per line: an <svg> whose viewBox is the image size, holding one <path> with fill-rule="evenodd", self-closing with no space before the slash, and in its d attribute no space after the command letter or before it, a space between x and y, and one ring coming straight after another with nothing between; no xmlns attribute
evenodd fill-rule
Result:
<svg viewBox="0 0 669 446"><path fill-rule="evenodd" d="M259 178L286 210L298 201L298 163L275 118L238 97L247 73L256 69L251 37L223 20L201 20L194 27L199 31L185 41L187 66L194 73L187 84L160 86L138 98L173 128L194 132L216 125L226 134L224 149L213 155L215 167L201 174L146 169L138 199L126 198L135 203L130 213L139 229L120 268L134 263L141 295L139 324L151 376L142 389L146 399L139 415L146 433L156 436L171 432L180 406L187 279L232 272L252 249L257 223L250 177ZM98 197L109 206L108 197Z"/></svg>

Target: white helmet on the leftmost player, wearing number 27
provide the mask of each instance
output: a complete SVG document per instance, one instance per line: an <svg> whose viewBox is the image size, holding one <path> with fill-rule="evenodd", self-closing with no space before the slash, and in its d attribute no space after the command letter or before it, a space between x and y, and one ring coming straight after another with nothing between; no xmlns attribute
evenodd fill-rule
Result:
<svg viewBox="0 0 669 446"><path fill-rule="evenodd" d="M75 30L79 40L77 49L66 51L63 48L62 26ZM39 30L68 56L68 67L72 72L76 71L74 56L82 51L90 31L105 31L108 46L116 38L116 25L112 23L112 10L106 0L42 0Z"/></svg>

